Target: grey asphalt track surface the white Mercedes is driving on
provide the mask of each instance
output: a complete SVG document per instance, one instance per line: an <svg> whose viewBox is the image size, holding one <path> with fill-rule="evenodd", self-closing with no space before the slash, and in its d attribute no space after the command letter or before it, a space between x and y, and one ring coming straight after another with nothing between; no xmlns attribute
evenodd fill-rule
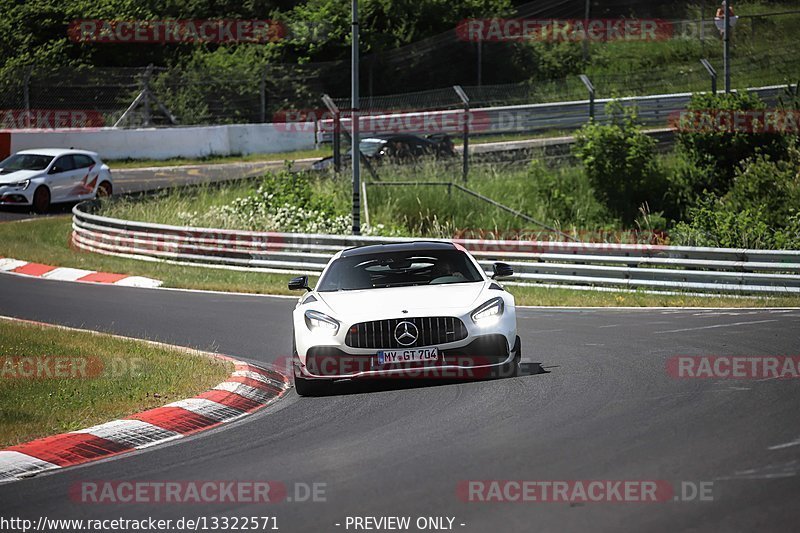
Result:
<svg viewBox="0 0 800 533"><path fill-rule="evenodd" d="M20 318L215 347L262 362L291 347L289 299L8 275L0 276L0 294L0 313ZM371 392L345 388L348 394L323 398L292 392L276 409L218 431L2 485L0 513L275 515L282 531L314 532L345 531L346 516L365 515L454 516L456 530L474 532L796 528L798 381L676 380L667 376L665 360L797 355L800 311L520 309L518 316L525 358L547 373ZM713 481L714 501L463 503L456 484L467 479ZM70 485L85 480L323 482L327 502L70 501Z"/></svg>

